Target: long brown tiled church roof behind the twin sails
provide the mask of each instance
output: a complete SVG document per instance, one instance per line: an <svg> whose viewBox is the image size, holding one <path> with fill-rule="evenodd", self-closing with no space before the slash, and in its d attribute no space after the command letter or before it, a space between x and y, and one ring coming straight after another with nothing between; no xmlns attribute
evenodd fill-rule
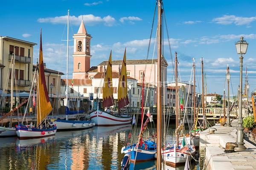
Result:
<svg viewBox="0 0 256 170"><path fill-rule="evenodd" d="M166 65L168 63L164 59ZM157 63L157 59L153 59L153 64ZM99 65L108 65L108 61L103 61ZM139 65L139 64L152 64L152 59L127 59L126 60L126 65ZM122 65L122 60L113 60L112 65Z"/></svg>

